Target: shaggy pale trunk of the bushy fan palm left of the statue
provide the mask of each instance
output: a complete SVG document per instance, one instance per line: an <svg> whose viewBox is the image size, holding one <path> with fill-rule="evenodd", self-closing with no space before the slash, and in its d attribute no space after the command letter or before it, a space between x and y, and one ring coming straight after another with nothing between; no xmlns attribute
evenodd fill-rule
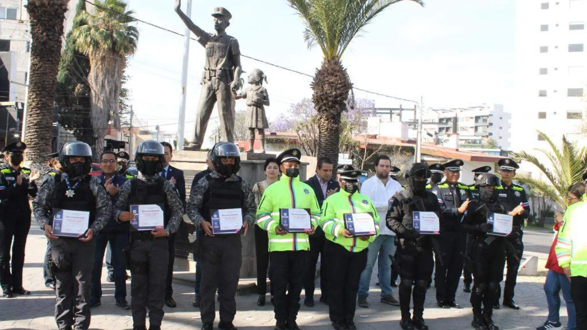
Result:
<svg viewBox="0 0 587 330"><path fill-rule="evenodd" d="M90 55L90 73L87 77L92 96L92 128L95 137L95 156L102 153L109 120L120 128L118 105L124 59L116 53Z"/></svg>

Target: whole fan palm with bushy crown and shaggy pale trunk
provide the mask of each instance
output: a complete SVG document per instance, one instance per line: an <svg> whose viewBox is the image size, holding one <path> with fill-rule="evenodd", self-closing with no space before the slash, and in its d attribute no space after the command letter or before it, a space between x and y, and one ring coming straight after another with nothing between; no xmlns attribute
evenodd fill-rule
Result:
<svg viewBox="0 0 587 330"><path fill-rule="evenodd" d="M120 127L119 96L127 56L137 49L139 31L130 23L135 22L127 11L127 4L120 0L96 0L95 11L82 11L76 17L84 22L73 31L77 49L90 59L88 82L92 100L92 128L96 153L102 151L102 142L109 120Z"/></svg>

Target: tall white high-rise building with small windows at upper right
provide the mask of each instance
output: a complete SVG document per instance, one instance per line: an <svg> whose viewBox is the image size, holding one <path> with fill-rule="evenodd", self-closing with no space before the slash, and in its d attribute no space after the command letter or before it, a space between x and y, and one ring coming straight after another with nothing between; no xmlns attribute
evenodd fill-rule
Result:
<svg viewBox="0 0 587 330"><path fill-rule="evenodd" d="M587 108L587 0L517 0L512 149L581 136Z"/></svg>

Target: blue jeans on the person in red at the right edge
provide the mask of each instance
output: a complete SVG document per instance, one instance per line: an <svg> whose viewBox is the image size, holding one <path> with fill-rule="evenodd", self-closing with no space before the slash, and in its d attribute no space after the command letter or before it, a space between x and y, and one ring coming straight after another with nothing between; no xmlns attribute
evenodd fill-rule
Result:
<svg viewBox="0 0 587 330"><path fill-rule="evenodd" d="M568 330L575 330L576 316L575 304L571 299L571 282L566 278L565 274L560 274L553 270L549 270L544 282L544 293L546 294L546 302L548 303L548 321L551 323L558 323L558 311L561 308L561 297L559 296L562 289L562 297L565 299L566 313L569 316L569 321L566 325Z"/></svg>

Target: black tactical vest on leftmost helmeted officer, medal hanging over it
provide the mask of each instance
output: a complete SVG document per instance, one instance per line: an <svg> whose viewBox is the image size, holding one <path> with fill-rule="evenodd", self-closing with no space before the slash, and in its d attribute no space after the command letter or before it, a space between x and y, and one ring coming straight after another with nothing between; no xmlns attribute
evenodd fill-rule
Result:
<svg viewBox="0 0 587 330"><path fill-rule="evenodd" d="M96 217L96 198L92 193L92 188L90 188L92 176L86 175L83 177L82 181L73 188L74 194L72 197L65 195L69 187L61 174L56 174L49 180L55 180L55 188L51 197L53 214L58 213L60 210L89 211L90 218L87 226L90 227ZM70 181L70 184L72 187L75 186L75 182ZM53 217L51 217L51 221L53 221Z"/></svg>

